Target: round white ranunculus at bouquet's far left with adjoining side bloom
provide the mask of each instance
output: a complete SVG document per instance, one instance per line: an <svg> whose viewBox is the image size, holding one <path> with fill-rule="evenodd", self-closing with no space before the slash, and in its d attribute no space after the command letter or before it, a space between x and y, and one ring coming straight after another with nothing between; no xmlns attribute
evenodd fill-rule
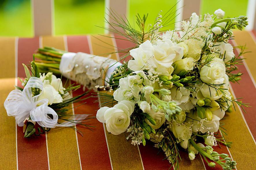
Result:
<svg viewBox="0 0 256 170"><path fill-rule="evenodd" d="M97 111L96 118L105 122L107 131L119 135L130 125L130 116L134 111L134 104L130 101L121 101L114 107L102 107Z"/></svg>

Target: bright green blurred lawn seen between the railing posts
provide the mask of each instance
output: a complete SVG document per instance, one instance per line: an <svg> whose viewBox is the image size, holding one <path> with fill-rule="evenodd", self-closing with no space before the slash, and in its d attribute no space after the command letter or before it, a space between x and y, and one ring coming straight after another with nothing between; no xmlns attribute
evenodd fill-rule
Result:
<svg viewBox="0 0 256 170"><path fill-rule="evenodd" d="M162 10L162 14L175 5L176 0L130 0L129 20L135 25L135 15L149 13L148 24ZM248 0L202 0L201 14L213 14L218 8L226 16L246 15ZM96 27L104 26L104 0L55 0L55 35L81 35L104 33ZM0 36L32 37L30 0L0 0ZM171 29L172 26L166 29Z"/></svg>

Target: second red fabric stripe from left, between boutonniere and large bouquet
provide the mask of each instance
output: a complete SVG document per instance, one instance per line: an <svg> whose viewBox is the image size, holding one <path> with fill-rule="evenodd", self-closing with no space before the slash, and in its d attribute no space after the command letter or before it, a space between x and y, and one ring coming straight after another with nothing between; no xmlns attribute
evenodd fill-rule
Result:
<svg viewBox="0 0 256 170"><path fill-rule="evenodd" d="M90 53L88 39L86 36L68 36L67 42L68 51L70 52ZM73 96L77 96L81 93L83 93L82 88L73 92ZM92 90L87 96L92 95L92 93L95 92ZM96 100L96 97L90 97L85 101L74 103L75 107L86 102L86 104L74 109L75 114L91 114L91 116L96 116L97 110L99 109L99 103L95 102ZM82 168L97 170L111 169L103 124L96 118L90 119L86 124L97 127L94 128L93 131L90 131L81 125L77 125L77 129L84 132L84 137L77 133ZM99 160L99 162L95 160Z"/></svg>

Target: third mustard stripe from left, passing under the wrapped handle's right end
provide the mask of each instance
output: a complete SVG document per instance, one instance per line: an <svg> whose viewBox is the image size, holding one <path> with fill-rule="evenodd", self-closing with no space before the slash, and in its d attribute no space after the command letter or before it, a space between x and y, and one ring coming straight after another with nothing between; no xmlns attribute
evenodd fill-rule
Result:
<svg viewBox="0 0 256 170"><path fill-rule="evenodd" d="M98 35L96 35L95 37L90 37L93 50L92 53L94 55L102 56L102 54L105 53L115 52L113 46L107 45L113 45L113 41L111 38ZM101 41L97 38L101 39ZM105 44L104 42L107 44ZM111 58L117 59L116 54L112 54ZM138 147L131 145L131 142L126 140L124 133L120 135L113 135L107 131L106 126L105 133L107 136L107 143L110 152L111 163L114 170L143 169Z"/></svg>

